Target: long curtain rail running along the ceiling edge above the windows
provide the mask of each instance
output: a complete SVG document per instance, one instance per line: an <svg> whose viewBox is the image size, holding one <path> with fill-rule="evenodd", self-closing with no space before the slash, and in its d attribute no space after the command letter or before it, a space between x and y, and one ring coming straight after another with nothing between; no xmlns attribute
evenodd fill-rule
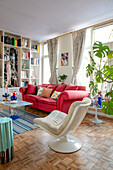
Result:
<svg viewBox="0 0 113 170"><path fill-rule="evenodd" d="M106 24L107 22L113 22L113 18L110 18L110 19L106 19L104 21L101 21L101 22L98 22L96 24L92 24L90 26L87 26L87 27L84 27L84 28L91 28L91 27L98 27L100 26L101 24ZM53 38L59 38L59 37L63 37L63 36L66 36L68 34L72 34L74 31L78 31L78 30L81 30L81 29L84 29L84 28L80 28L80 29L77 29L77 30L73 30L73 31L70 31L70 32L67 32L67 33L63 33L63 34L60 34L56 37L53 37ZM47 40L51 40L53 38L50 38L50 39L47 39ZM44 41L40 41L40 43L44 43L44 42L47 42L47 40L44 40Z"/></svg>

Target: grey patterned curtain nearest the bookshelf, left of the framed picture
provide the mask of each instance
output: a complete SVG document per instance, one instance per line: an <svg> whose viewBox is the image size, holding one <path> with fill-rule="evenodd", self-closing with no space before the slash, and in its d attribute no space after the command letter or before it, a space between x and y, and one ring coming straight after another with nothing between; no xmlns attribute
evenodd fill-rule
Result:
<svg viewBox="0 0 113 170"><path fill-rule="evenodd" d="M51 72L51 77L49 79L49 82L51 84L58 83L57 74L56 74L57 48L58 48L57 38L48 40L48 57L49 57L50 72Z"/></svg>

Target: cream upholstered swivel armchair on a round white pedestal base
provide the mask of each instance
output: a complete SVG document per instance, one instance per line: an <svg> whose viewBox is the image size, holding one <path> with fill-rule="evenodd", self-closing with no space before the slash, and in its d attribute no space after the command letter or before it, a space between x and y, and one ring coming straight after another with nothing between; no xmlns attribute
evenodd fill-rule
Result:
<svg viewBox="0 0 113 170"><path fill-rule="evenodd" d="M61 153L77 151L82 143L69 133L80 125L90 104L90 99L85 97L82 101L72 103L68 114L54 110L45 118L34 119L34 125L42 127L56 138L48 143L51 149Z"/></svg>

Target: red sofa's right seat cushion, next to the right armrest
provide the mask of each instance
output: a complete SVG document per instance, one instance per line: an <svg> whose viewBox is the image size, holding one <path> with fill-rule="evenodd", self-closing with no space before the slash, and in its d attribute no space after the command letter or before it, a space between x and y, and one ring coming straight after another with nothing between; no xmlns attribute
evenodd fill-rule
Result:
<svg viewBox="0 0 113 170"><path fill-rule="evenodd" d="M57 105L57 101L54 100L54 99L51 99L51 98L44 98L44 97L40 97L38 99L38 102L40 103L45 103L45 104L48 104L48 105Z"/></svg>

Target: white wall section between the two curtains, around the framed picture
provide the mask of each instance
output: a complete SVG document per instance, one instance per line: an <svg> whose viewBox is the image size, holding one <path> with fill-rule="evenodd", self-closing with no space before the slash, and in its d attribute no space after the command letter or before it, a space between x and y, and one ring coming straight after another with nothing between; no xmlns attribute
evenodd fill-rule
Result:
<svg viewBox="0 0 113 170"><path fill-rule="evenodd" d="M72 78L72 55L73 55L73 44L72 34L62 36L58 38L58 76L66 74L66 84L71 82ZM61 66L61 53L68 53L68 66Z"/></svg>

